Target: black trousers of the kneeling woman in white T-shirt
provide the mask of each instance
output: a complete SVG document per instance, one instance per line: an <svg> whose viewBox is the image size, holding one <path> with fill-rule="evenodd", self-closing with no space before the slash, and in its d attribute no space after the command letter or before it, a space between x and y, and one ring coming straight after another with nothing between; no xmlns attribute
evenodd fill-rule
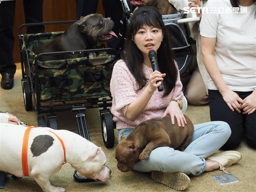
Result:
<svg viewBox="0 0 256 192"><path fill-rule="evenodd" d="M244 137L248 145L256 148L256 111L251 115L243 115L243 110L241 110L241 113L238 113L236 110L231 111L218 90L208 91L211 121L227 122L231 128L231 136L221 149L229 150L236 148ZM235 92L242 99L252 93L252 91Z"/></svg>

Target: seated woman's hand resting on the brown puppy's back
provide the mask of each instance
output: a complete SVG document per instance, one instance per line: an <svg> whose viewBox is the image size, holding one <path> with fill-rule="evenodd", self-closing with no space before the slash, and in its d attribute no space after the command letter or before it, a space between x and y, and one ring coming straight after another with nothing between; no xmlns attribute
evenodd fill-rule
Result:
<svg viewBox="0 0 256 192"><path fill-rule="evenodd" d="M184 127L185 124L187 124L187 121L179 108L179 104L176 101L170 102L162 117L166 116L167 114L171 116L171 122L173 125L175 123L174 117L176 118L179 127Z"/></svg>

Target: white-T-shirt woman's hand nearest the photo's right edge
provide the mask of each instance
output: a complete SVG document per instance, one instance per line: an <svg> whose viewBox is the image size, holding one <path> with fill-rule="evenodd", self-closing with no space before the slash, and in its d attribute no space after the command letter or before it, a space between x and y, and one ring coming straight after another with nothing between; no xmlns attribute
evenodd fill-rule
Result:
<svg viewBox="0 0 256 192"><path fill-rule="evenodd" d="M252 94L248 95L244 98L244 104L241 105L243 108L243 114L252 114L256 110L256 90L252 92Z"/></svg>

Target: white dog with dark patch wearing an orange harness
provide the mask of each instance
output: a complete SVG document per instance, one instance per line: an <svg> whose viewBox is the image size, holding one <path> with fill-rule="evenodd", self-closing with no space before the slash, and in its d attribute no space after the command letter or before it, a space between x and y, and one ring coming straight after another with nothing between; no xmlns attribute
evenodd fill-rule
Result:
<svg viewBox="0 0 256 192"><path fill-rule="evenodd" d="M22 149L26 129L21 125L0 123L1 171L17 177L24 176ZM106 156L92 142L67 130L47 127L31 129L27 147L28 175L36 180L44 192L66 191L52 186L49 181L49 177L60 170L65 160L85 177L103 182L110 178L111 170L105 166Z"/></svg>

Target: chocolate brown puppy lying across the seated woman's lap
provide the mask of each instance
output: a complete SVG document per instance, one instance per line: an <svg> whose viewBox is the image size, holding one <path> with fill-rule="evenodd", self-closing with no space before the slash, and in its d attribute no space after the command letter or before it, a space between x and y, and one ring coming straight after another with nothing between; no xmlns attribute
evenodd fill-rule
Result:
<svg viewBox="0 0 256 192"><path fill-rule="evenodd" d="M151 151L157 147L171 147L180 151L190 144L194 125L184 115L185 127L171 123L170 115L160 119L147 120L140 123L126 138L116 146L117 168L122 172L131 171L140 160L148 159Z"/></svg>

